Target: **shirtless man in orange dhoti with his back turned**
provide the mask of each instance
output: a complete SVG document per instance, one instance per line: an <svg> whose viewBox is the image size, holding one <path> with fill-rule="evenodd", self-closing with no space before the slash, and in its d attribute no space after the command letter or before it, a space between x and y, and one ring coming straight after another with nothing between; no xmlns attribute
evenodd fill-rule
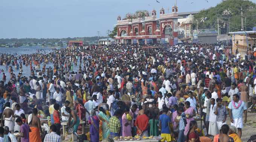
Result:
<svg viewBox="0 0 256 142"><path fill-rule="evenodd" d="M31 119L29 119L32 117ZM41 142L41 137L43 136L43 131L41 128L40 119L37 117L37 109L34 108L32 110L32 114L30 114L27 118L27 124L29 125L31 132L29 132L29 140L33 142Z"/></svg>

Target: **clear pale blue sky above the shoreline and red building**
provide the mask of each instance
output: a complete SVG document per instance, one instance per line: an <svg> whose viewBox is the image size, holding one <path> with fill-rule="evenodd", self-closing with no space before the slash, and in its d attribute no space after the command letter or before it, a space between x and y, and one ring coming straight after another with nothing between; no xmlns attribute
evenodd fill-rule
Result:
<svg viewBox="0 0 256 142"><path fill-rule="evenodd" d="M175 0L0 0L0 38L67 38L106 36L117 16L157 10ZM222 0L177 0L179 12L200 11ZM254 0L253 0L254 1ZM194 2L194 3L192 3ZM191 4L192 3L192 4Z"/></svg>

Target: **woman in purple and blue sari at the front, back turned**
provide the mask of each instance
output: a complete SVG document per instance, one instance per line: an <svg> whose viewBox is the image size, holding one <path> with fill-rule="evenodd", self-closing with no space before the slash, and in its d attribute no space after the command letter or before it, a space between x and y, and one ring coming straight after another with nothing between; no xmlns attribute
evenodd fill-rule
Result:
<svg viewBox="0 0 256 142"><path fill-rule="evenodd" d="M99 142L99 118L96 116L95 110L91 110L91 116L88 118L90 125L90 141Z"/></svg>

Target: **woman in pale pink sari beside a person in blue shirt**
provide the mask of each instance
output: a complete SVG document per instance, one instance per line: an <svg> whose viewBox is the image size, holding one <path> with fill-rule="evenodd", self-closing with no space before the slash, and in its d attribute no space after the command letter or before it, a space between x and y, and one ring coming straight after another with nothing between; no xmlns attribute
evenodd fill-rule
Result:
<svg viewBox="0 0 256 142"><path fill-rule="evenodd" d="M195 110L193 107L190 107L189 101L185 102L185 109L184 113L186 114L187 125L185 127L184 135L187 135L189 132L189 123L194 120L193 116L195 116Z"/></svg>

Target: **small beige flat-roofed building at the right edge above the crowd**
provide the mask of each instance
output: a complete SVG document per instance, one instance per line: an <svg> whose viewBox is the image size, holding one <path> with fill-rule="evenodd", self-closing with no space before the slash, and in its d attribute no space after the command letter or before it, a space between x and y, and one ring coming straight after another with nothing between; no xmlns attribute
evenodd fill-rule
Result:
<svg viewBox="0 0 256 142"><path fill-rule="evenodd" d="M241 54L241 57L245 57L247 47L256 44L256 31L238 31L229 32L232 36L232 54L236 55L236 49Z"/></svg>

